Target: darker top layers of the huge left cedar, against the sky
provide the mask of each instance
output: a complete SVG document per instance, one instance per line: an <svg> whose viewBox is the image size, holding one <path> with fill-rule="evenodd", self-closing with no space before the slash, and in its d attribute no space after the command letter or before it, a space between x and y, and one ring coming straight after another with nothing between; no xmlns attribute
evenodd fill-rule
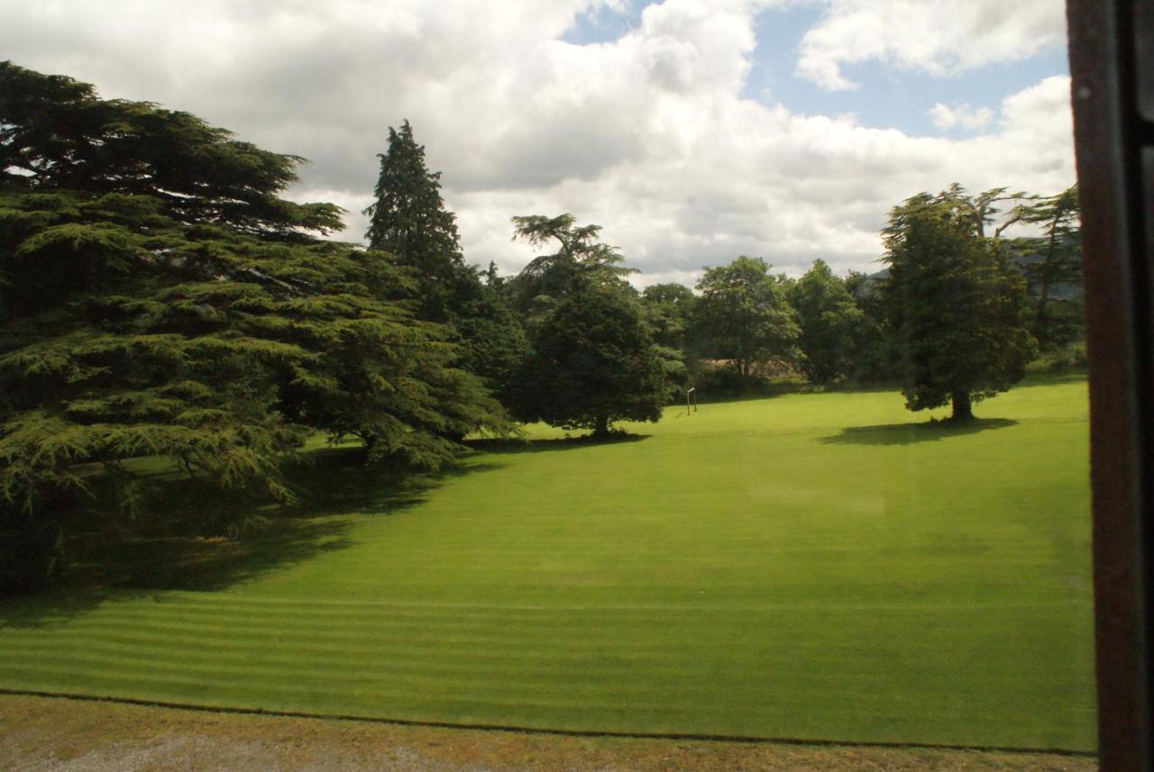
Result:
<svg viewBox="0 0 1154 772"><path fill-rule="evenodd" d="M300 229L342 228L339 207L277 196L297 180L301 158L238 142L189 113L98 99L87 83L0 62L0 179L17 187L143 194L152 200L137 207L118 199L115 213L156 207L245 233L295 237Z"/></svg>

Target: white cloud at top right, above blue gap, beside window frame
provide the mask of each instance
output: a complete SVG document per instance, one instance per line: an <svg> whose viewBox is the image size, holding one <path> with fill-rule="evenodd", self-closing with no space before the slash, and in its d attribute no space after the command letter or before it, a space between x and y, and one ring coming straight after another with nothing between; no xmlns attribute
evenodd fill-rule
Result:
<svg viewBox="0 0 1154 772"><path fill-rule="evenodd" d="M838 91L877 60L936 76L1026 59L1065 39L1062 0L832 0L802 38L797 75Z"/></svg>

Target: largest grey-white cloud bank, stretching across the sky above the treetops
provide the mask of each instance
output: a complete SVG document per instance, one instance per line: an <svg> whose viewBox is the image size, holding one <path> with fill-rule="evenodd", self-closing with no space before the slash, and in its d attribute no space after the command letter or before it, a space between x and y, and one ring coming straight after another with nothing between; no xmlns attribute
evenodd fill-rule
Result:
<svg viewBox="0 0 1154 772"><path fill-rule="evenodd" d="M532 256L510 217L567 211L602 225L639 283L691 282L740 253L872 270L886 213L920 190L1074 180L1069 78L1009 97L976 136L915 137L741 98L755 3L667 0L613 43L562 43L593 6L0 0L0 50L312 158L292 195L345 206L351 240L387 127L407 118L467 259L504 272Z"/></svg>

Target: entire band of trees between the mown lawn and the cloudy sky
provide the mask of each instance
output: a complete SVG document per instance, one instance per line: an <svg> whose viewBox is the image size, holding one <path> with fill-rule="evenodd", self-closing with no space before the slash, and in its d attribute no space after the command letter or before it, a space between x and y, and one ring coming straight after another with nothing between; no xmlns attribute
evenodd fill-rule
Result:
<svg viewBox="0 0 1154 772"><path fill-rule="evenodd" d="M337 206L282 197L304 159L0 62L0 589L52 580L96 478L149 506L142 457L242 509L291 501L317 434L436 469L517 422L604 437L769 374L961 419L1081 335L1074 189L915 196L872 275L740 256L638 292L571 214L512 218L542 252L516 275L469 264L407 121L379 160L367 247L335 241Z"/></svg>

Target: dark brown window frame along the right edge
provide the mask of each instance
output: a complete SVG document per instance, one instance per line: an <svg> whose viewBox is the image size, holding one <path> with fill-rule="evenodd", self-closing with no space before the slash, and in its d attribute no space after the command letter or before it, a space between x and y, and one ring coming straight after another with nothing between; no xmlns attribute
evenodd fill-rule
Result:
<svg viewBox="0 0 1154 772"><path fill-rule="evenodd" d="M1099 759L1152 770L1154 0L1067 0L1091 388Z"/></svg>

